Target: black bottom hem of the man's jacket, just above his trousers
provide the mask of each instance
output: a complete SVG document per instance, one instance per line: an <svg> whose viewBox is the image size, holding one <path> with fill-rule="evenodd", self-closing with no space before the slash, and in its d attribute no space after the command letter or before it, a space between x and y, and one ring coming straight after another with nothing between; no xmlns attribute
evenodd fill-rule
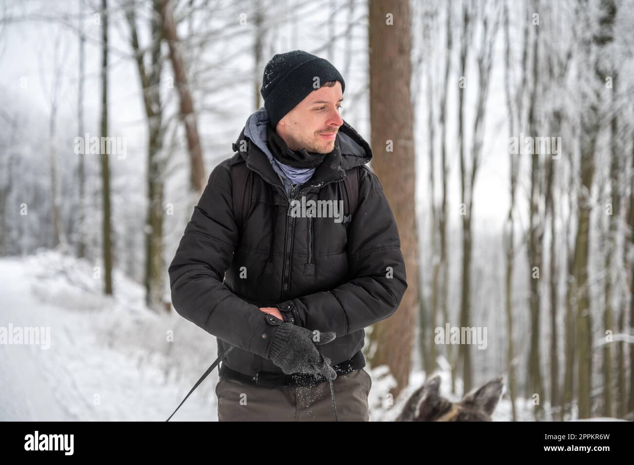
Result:
<svg viewBox="0 0 634 465"><path fill-rule="evenodd" d="M347 374L351 371L358 370L365 367L365 357L361 353L361 350L354 354L349 360L344 360L341 363L333 365L337 376L341 374ZM240 373L239 371L232 370L227 364L223 362L220 364L220 378L233 379L233 381L240 381L254 386L268 386L273 388L285 388L288 386L314 386L324 381L328 381L324 376L313 375L309 373L273 373L271 371L260 371L256 373L256 376L249 376L248 374Z"/></svg>

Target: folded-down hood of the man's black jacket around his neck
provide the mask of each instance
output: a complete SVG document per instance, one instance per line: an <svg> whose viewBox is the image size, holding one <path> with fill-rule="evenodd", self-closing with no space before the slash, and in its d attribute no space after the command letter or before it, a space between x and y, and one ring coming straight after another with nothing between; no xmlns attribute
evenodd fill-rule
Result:
<svg viewBox="0 0 634 465"><path fill-rule="evenodd" d="M282 181L288 181L288 179L277 165L266 143L266 125L268 122L268 111L262 106L247 118L247 122L232 146L233 151L239 152L249 167L255 169L269 182L280 184L280 179ZM246 144L243 144L242 141L245 141ZM346 120L337 132L335 144L337 143L340 148L340 156L335 151L335 155L325 158L314 169L311 182L327 182L344 177L345 170L357 165L364 165L372 160L370 144Z"/></svg>

